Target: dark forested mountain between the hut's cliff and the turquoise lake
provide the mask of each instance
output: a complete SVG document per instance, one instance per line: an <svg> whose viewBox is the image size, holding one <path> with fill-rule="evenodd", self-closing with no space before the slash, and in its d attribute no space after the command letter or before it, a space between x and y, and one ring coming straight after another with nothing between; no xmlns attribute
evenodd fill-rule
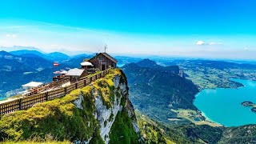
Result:
<svg viewBox="0 0 256 144"><path fill-rule="evenodd" d="M193 105L198 87L181 77L178 66L159 66L149 59L122 67L134 107L160 122L176 118L171 109L197 110ZM183 75L183 74L182 74Z"/></svg>

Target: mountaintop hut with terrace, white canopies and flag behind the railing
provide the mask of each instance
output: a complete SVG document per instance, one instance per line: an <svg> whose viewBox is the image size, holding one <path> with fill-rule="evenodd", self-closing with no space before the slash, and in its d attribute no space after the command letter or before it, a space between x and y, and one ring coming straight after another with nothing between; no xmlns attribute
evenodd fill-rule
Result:
<svg viewBox="0 0 256 144"><path fill-rule="evenodd" d="M29 82L22 85L22 92L18 92L18 96L30 96L33 94L41 94L51 90L58 90L60 88L70 86L74 82L79 82L82 78L90 74L95 74L109 68L117 67L117 60L110 56L110 54L99 53L95 54L93 58L83 59L80 63L80 68L68 70L54 71L55 66L59 66L57 62L53 63L53 74L58 74L53 77L50 83Z"/></svg>

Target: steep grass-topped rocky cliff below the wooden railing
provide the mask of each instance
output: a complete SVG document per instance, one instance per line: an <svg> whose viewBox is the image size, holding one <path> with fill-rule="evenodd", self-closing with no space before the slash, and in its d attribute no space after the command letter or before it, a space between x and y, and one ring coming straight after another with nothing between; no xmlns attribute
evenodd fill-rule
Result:
<svg viewBox="0 0 256 144"><path fill-rule="evenodd" d="M52 138L84 143L138 143L138 124L126 75L114 70L63 98L6 114L0 138Z"/></svg>

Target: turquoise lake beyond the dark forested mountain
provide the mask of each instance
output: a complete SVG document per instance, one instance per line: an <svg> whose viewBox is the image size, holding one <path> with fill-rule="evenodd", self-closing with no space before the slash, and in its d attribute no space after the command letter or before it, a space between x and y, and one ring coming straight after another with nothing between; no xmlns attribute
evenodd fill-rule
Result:
<svg viewBox="0 0 256 144"><path fill-rule="evenodd" d="M256 82L232 79L244 87L238 89L202 90L196 95L194 105L198 107L210 121L224 126L242 126L256 124L256 113L250 107L241 106L241 102L256 103Z"/></svg>

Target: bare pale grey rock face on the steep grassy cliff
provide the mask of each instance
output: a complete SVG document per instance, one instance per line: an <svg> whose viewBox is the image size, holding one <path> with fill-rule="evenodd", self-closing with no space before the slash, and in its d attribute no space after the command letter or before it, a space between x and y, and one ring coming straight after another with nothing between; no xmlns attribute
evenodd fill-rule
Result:
<svg viewBox="0 0 256 144"><path fill-rule="evenodd" d="M125 79L125 82L122 82L121 79ZM113 125L118 112L121 112L123 109L126 110L129 117L132 119L134 131L136 133L139 132L138 123L134 113L134 107L132 106L128 98L129 92L128 92L126 78L122 78L122 75L115 74L113 78L113 82L114 82L114 91L113 91L114 102L110 108L107 108L107 106L104 106L102 102L102 95L97 91L96 91L97 96L95 97L95 107L96 107L95 118L98 119L98 122L100 125L100 135L104 140L104 142L106 143L110 142L111 126ZM122 106L121 104L122 98L126 101L125 106Z"/></svg>

